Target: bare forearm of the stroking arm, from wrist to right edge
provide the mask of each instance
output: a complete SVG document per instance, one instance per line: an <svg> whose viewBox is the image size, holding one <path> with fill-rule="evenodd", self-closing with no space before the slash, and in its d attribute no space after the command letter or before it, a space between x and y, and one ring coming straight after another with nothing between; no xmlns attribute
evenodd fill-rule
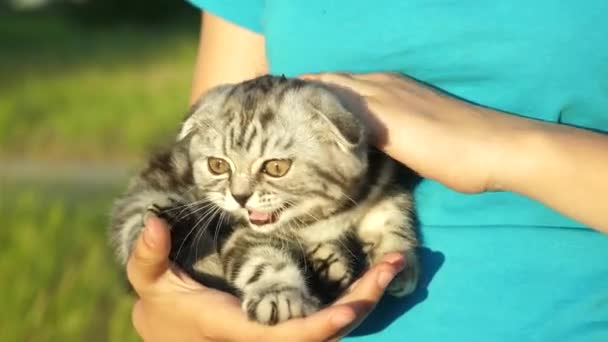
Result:
<svg viewBox="0 0 608 342"><path fill-rule="evenodd" d="M608 135L527 121L528 129L505 135L511 143L494 186L608 232Z"/></svg>

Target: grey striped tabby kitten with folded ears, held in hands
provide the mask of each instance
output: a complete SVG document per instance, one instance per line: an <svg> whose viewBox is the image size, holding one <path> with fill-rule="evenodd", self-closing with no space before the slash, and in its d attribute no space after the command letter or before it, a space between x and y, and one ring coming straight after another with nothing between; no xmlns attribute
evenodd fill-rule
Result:
<svg viewBox="0 0 608 342"><path fill-rule="evenodd" d="M145 216L165 218L172 260L265 324L318 310L389 252L406 257L388 288L403 296L419 265L397 172L325 87L263 76L198 101L116 202L112 237L125 263Z"/></svg>

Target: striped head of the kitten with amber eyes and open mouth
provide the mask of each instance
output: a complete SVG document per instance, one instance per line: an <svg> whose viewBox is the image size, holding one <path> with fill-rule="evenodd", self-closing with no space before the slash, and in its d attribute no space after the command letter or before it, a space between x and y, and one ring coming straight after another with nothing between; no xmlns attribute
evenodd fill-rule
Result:
<svg viewBox="0 0 608 342"><path fill-rule="evenodd" d="M318 83L263 76L207 92L184 121L196 185L260 232L353 202L367 171L361 121Z"/></svg>

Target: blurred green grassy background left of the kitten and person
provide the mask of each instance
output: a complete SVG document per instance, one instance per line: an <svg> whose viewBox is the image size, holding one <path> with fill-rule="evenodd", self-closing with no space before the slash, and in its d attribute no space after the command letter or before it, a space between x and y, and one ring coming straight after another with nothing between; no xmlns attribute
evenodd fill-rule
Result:
<svg viewBox="0 0 608 342"><path fill-rule="evenodd" d="M180 0L0 0L0 341L137 341L112 199L188 107Z"/></svg>

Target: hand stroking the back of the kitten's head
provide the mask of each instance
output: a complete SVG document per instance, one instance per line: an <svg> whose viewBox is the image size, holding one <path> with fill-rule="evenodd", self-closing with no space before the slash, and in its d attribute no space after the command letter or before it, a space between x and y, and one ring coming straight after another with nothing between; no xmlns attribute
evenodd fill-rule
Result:
<svg viewBox="0 0 608 342"><path fill-rule="evenodd" d="M333 88L345 105L362 115L372 143L380 149L421 176L460 192L499 189L495 172L504 167L502 156L509 144L501 132L530 124L399 74L322 73L301 78Z"/></svg>

